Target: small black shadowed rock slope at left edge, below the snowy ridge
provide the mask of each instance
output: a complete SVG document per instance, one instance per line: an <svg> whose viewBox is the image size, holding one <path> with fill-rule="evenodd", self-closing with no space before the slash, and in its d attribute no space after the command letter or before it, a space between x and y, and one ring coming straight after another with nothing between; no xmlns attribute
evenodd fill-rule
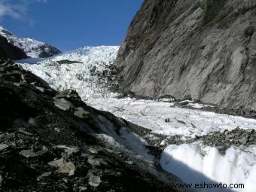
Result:
<svg viewBox="0 0 256 192"><path fill-rule="evenodd" d="M18 47L9 44L7 39L0 35L0 57L10 58L10 59L25 59L26 53Z"/></svg>

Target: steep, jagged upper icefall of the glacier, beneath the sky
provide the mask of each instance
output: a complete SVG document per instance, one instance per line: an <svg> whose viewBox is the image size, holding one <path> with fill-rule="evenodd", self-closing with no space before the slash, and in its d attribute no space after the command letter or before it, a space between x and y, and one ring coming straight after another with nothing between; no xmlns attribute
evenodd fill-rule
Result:
<svg viewBox="0 0 256 192"><path fill-rule="evenodd" d="M118 48L118 46L84 47L50 59L39 59L36 64L31 64L35 59L23 59L17 62L22 62L24 69L43 78L53 89L72 88L84 101L87 101L112 94L99 84L99 78L92 74L92 71L103 72L107 66L110 66L114 62ZM59 64L57 61L61 60L74 63ZM29 63L26 63L27 61Z"/></svg>

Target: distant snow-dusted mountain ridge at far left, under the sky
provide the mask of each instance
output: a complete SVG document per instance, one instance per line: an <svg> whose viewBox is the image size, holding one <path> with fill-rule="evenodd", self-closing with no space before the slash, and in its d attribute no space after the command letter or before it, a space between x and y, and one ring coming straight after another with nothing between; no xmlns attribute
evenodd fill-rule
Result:
<svg viewBox="0 0 256 192"><path fill-rule="evenodd" d="M26 56L32 58L49 57L61 53L56 47L45 44L32 38L19 38L0 26L0 35L8 40L14 47L20 48ZM23 57L25 58L25 57Z"/></svg>

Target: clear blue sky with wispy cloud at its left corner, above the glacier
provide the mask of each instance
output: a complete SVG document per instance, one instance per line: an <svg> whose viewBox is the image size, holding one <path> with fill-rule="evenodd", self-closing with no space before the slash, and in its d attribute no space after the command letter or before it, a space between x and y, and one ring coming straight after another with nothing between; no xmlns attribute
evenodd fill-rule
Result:
<svg viewBox="0 0 256 192"><path fill-rule="evenodd" d="M62 51L118 45L143 0L0 0L0 25Z"/></svg>

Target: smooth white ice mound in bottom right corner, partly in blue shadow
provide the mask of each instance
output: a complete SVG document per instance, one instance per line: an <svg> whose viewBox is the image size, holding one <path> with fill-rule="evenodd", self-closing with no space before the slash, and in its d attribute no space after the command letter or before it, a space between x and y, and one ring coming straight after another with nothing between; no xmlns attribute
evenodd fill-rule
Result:
<svg viewBox="0 0 256 192"><path fill-rule="evenodd" d="M223 156L217 148L200 143L169 145L163 151L160 164L163 169L190 184L244 184L244 189L233 190L256 191L256 146L245 149L231 147Z"/></svg>

